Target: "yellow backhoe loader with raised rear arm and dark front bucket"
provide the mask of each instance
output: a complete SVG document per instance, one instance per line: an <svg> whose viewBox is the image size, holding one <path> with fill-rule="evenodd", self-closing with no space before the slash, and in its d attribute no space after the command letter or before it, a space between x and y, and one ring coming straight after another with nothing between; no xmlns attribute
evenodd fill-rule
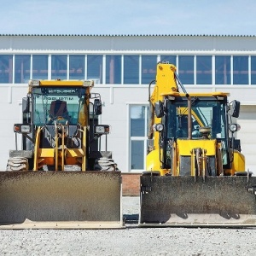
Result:
<svg viewBox="0 0 256 256"><path fill-rule="evenodd" d="M139 226L256 226L256 177L235 137L240 102L228 96L189 94L176 67L158 63Z"/></svg>

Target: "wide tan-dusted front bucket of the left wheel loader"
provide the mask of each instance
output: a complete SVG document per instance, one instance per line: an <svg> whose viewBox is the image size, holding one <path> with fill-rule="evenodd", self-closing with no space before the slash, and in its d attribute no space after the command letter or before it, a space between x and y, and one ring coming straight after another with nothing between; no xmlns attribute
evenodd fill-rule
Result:
<svg viewBox="0 0 256 256"><path fill-rule="evenodd" d="M0 229L123 227L120 172L0 172Z"/></svg>

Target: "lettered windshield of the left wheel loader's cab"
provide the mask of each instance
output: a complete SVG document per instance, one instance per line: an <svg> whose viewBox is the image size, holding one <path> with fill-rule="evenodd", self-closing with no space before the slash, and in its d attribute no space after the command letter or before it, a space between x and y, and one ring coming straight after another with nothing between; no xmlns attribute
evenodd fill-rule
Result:
<svg viewBox="0 0 256 256"><path fill-rule="evenodd" d="M77 125L84 111L85 89L36 88L33 90L33 119L35 125L55 122Z"/></svg>

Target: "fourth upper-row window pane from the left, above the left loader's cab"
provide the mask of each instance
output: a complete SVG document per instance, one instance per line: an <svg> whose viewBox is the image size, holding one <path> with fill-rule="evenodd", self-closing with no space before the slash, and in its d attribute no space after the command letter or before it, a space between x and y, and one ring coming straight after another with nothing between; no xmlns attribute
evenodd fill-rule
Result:
<svg viewBox="0 0 256 256"><path fill-rule="evenodd" d="M67 55L51 55L51 79L67 79Z"/></svg>

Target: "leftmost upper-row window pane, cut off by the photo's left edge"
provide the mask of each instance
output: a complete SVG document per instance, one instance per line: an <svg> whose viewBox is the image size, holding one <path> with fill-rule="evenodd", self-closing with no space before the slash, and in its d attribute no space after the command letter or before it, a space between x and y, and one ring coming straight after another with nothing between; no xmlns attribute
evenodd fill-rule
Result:
<svg viewBox="0 0 256 256"><path fill-rule="evenodd" d="M13 55L0 55L0 83L13 82Z"/></svg>

